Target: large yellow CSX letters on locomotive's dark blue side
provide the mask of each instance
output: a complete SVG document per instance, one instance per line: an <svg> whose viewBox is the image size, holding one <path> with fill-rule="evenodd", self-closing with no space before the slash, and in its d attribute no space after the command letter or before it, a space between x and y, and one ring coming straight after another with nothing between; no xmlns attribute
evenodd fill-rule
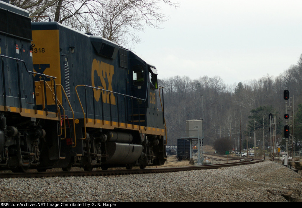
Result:
<svg viewBox="0 0 302 208"><path fill-rule="evenodd" d="M94 82L94 74L95 71L98 74L98 77L100 78L101 85L102 86L95 86ZM91 70L91 80L92 80L92 86L97 87L104 90L113 91L112 89L112 76L114 75L114 67L110 64L106 64L103 61L98 61L96 59L93 59L92 61L92 70ZM108 88L106 85L106 81L108 82ZM99 89L93 89L94 91L94 97L96 101L99 101L101 94L102 99L104 103L110 103L115 105L115 97L113 93L106 92L104 90ZM110 94L110 101L109 101L109 94Z"/></svg>

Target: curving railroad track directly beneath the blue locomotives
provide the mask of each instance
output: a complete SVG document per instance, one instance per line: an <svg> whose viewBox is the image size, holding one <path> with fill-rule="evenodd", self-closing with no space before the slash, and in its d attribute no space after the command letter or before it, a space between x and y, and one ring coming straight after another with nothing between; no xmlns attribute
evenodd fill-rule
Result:
<svg viewBox="0 0 302 208"><path fill-rule="evenodd" d="M263 160L244 160L233 163L211 164L211 165L195 165L185 167L169 167L169 168L146 168L146 169L120 169L120 170L95 170L95 171L60 171L60 172L25 172L25 173L0 173L0 178L41 178L41 177L70 177L70 176L110 176L110 175L133 175L147 173L162 173L162 172L178 172L188 170L201 169L217 169L222 167L231 167L239 165L249 165L259 163Z"/></svg>

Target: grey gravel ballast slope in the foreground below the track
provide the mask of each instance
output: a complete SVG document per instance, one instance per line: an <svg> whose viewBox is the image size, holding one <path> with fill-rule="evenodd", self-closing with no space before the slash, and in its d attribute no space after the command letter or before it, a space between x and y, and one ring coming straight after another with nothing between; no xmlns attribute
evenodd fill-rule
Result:
<svg viewBox="0 0 302 208"><path fill-rule="evenodd" d="M287 202L301 174L271 161L220 169L120 176L0 179L1 202Z"/></svg>

